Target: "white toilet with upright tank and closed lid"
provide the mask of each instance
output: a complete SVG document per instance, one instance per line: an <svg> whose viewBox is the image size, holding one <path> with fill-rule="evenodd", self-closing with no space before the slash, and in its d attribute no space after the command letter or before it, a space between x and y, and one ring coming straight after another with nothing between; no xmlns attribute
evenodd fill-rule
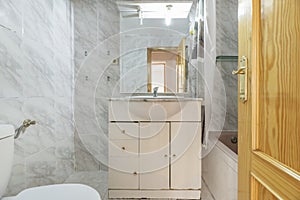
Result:
<svg viewBox="0 0 300 200"><path fill-rule="evenodd" d="M14 155L14 127L0 124L1 200L101 200L98 192L82 184L57 184L25 189L14 197L3 197L10 179Z"/></svg>

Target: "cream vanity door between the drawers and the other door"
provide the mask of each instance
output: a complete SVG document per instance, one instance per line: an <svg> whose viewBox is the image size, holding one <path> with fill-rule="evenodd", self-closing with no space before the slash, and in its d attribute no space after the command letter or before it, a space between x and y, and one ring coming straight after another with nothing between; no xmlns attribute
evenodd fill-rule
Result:
<svg viewBox="0 0 300 200"><path fill-rule="evenodd" d="M169 189L169 123L140 123L140 189Z"/></svg>

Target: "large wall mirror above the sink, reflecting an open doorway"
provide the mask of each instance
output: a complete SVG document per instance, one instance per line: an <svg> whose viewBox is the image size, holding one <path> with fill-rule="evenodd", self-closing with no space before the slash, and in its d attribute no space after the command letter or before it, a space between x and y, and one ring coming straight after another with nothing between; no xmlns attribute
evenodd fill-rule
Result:
<svg viewBox="0 0 300 200"><path fill-rule="evenodd" d="M122 93L188 92L193 1L119 1Z"/></svg>

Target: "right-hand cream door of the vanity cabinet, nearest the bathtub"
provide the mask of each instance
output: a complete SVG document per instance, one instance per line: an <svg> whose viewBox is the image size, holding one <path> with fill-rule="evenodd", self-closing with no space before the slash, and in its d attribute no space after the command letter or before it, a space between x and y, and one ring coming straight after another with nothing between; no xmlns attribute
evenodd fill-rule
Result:
<svg viewBox="0 0 300 200"><path fill-rule="evenodd" d="M201 188L201 123L171 122L171 189Z"/></svg>

